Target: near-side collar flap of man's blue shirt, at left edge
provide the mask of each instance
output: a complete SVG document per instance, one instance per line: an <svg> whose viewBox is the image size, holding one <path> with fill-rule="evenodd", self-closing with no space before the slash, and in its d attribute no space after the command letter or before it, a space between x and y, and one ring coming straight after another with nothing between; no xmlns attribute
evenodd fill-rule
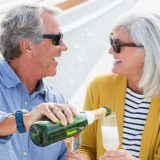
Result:
<svg viewBox="0 0 160 160"><path fill-rule="evenodd" d="M13 86L16 86L18 83L21 83L21 80L16 75L5 58L0 58L0 74L3 84L7 88L11 88Z"/></svg>

